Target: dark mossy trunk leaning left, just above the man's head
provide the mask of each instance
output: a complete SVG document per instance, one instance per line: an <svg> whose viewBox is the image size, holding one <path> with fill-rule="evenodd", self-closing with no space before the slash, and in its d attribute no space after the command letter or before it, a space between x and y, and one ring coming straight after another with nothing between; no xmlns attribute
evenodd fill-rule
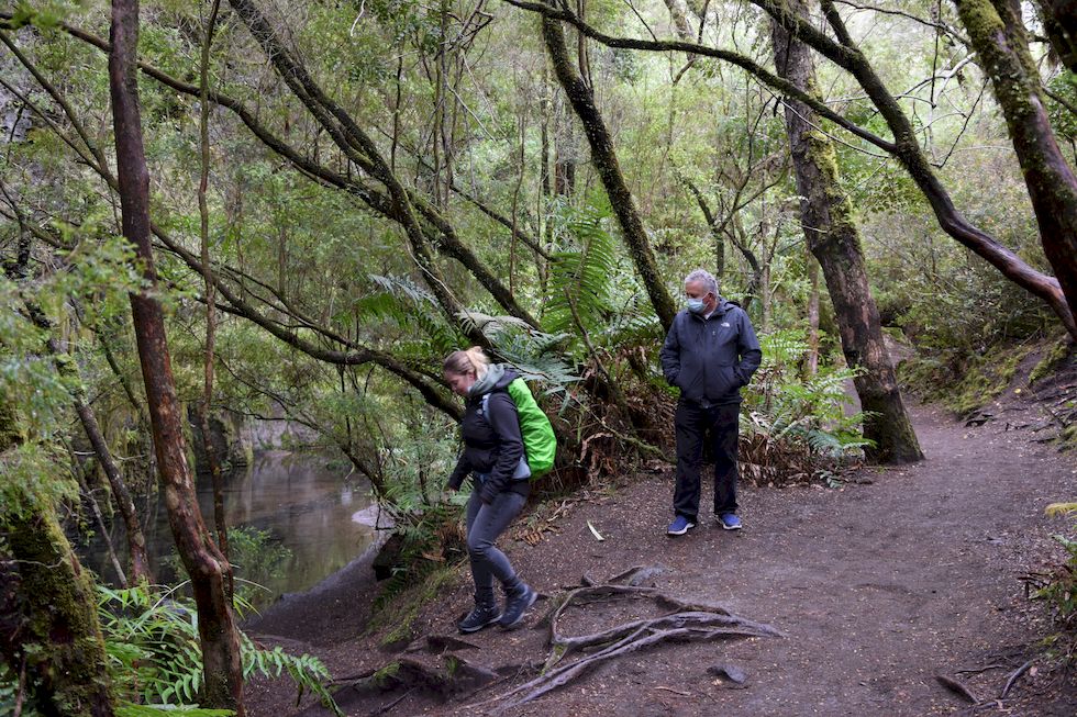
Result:
<svg viewBox="0 0 1077 717"><path fill-rule="evenodd" d="M587 135L587 141L591 147L591 161L595 163L602 186L610 197L610 204L617 215L618 223L621 225L624 243L629 247L632 261L635 264L636 271L640 273L647 295L651 298L651 305L654 306L663 329L668 331L673 324L674 315L677 313L677 307L658 272L658 265L655 261L654 251L651 249L651 239L643 227L643 221L640 219L640 212L632 199L632 192L629 191L624 176L621 173L621 166L613 149L613 138L606 127L602 114L595 104L595 93L573 66L568 48L565 45L565 33L560 22L543 16L542 36L554 66L554 74L584 125L584 133Z"/></svg>

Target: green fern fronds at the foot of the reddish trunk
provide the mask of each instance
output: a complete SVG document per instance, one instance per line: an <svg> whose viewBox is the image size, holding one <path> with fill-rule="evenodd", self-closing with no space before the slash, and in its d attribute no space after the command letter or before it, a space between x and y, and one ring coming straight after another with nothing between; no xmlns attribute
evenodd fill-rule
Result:
<svg viewBox="0 0 1077 717"><path fill-rule="evenodd" d="M136 710L132 714L153 706L187 709L197 702L202 656L193 603L175 591L158 595L143 585L122 590L98 586L98 592L110 672L120 697ZM309 691L341 714L324 686L330 674L317 658L295 657L279 647L259 648L243 632L240 649L244 679L287 673L300 694Z"/></svg>

